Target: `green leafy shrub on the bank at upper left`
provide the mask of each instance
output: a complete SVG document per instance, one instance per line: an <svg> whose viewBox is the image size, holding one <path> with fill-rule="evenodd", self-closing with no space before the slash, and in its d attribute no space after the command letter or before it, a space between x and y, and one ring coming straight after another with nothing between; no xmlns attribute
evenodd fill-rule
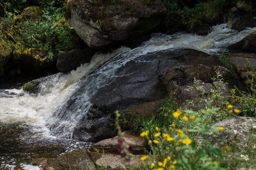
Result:
<svg viewBox="0 0 256 170"><path fill-rule="evenodd" d="M43 15L36 20L23 21L20 15L13 13L8 13L6 18L2 19L2 30L16 44L14 51L22 53L25 49L37 48L46 51L47 60L52 62L56 60L58 51L76 48L78 36L63 19L63 8L56 7L56 2L40 1L44 7ZM17 18L17 21L14 18Z"/></svg>

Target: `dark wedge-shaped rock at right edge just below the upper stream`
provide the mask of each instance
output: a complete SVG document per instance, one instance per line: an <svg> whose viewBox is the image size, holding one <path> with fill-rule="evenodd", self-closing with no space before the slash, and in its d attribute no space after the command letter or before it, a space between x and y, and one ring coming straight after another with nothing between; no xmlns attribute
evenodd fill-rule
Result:
<svg viewBox="0 0 256 170"><path fill-rule="evenodd" d="M256 31L243 38L243 40L228 46L227 49L256 53Z"/></svg>

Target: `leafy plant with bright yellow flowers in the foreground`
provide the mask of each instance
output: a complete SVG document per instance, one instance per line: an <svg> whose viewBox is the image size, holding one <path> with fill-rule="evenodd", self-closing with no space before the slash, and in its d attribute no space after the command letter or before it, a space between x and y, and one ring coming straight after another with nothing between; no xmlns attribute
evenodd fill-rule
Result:
<svg viewBox="0 0 256 170"><path fill-rule="evenodd" d="M208 109L206 113L215 112L216 109ZM211 145L201 144L200 147L196 146L196 142L193 138L183 133L185 126L174 126L174 122L186 122L195 121L195 119L187 120L187 117L198 117L197 112L191 112L191 110L185 110L184 114L180 111L175 116L176 121L173 121L169 128L156 127L153 129L153 137L148 135L147 131L141 133L141 136L146 137L148 144L151 148L150 158L153 158L154 163L151 169L159 168L159 170L225 170L220 167L220 163L216 160L217 157L222 157L222 153L217 148ZM195 128L189 129L190 132L196 134L206 135L209 130L220 131L222 127L215 126L195 126Z"/></svg>

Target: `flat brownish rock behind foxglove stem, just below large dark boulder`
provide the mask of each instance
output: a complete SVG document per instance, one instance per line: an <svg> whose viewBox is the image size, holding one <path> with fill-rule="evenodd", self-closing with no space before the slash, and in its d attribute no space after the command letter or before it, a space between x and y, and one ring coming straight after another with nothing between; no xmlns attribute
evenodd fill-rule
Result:
<svg viewBox="0 0 256 170"><path fill-rule="evenodd" d="M124 131L123 134L126 143L130 145L130 149L143 149L146 146L146 142L142 137L139 137L139 135L133 135L129 131ZM93 144L92 147L118 148L118 136L99 141Z"/></svg>

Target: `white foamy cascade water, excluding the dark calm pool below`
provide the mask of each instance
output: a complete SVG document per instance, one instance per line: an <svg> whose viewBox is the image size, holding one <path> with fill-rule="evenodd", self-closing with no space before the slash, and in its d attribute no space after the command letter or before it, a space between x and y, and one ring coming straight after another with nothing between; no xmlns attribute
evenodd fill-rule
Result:
<svg viewBox="0 0 256 170"><path fill-rule="evenodd" d="M92 105L90 95L101 86L109 84L113 73L126 62L149 52L166 49L190 48L214 54L256 31L255 27L237 32L225 28L225 25L213 26L207 36L191 33L154 33L150 40L135 49L121 47L112 53L96 54L90 63L83 64L75 71L46 77L40 94L36 96L22 93L22 89L0 91L0 124L26 125L29 128L27 136L23 136L24 139L30 139L31 136L70 139L74 127ZM85 89L88 92L84 90L85 93L74 98L76 108L68 110L67 99L72 99L81 84L87 84Z"/></svg>

